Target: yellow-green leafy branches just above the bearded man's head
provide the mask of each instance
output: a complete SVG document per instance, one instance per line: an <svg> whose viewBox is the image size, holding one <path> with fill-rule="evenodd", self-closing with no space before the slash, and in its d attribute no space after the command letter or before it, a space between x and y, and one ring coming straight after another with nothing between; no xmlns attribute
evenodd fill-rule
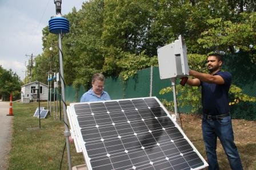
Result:
<svg viewBox="0 0 256 170"><path fill-rule="evenodd" d="M236 23L222 18L207 20L211 28L202 32L198 43L209 52L247 52L256 63L256 13L241 13L238 19Z"/></svg>

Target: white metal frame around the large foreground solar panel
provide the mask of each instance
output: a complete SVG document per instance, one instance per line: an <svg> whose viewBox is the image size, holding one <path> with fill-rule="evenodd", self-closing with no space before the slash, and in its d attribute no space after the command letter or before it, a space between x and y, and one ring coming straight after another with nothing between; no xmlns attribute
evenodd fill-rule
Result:
<svg viewBox="0 0 256 170"><path fill-rule="evenodd" d="M198 155L198 157L202 160L203 165L201 167L197 167L194 168L196 169L202 169L208 166L207 162L205 161L205 159L203 159L202 155L198 152L197 148L194 147L193 143L191 143L191 141L189 140L189 138L187 138L186 134L183 132L182 128L178 125L178 123L176 121L174 121L174 119L171 117L169 111L167 111L167 109L162 105L162 103L159 101L159 99L157 97L142 97L142 98L129 98L129 99L116 99L116 100L110 100L110 101L98 101L98 102L83 102L83 103L105 103L105 102L111 102L111 101L133 101L134 99L147 99L147 98L154 98L158 104L160 105L160 107L165 111L165 113L167 114L167 117L169 117L171 119L171 121L174 123L175 127L179 130L179 132L181 132L181 134L183 135L183 138L187 140L187 142L190 144L190 146L193 148L193 151ZM79 127L79 122L77 119L77 114L75 113L75 109L74 106L77 104L82 104L82 103L70 103L70 106L67 106L67 114L69 115L69 122L71 124L73 124L73 126L71 126L71 128L73 127L73 129L71 129L71 131L74 132L74 140L77 141L77 147L82 149L82 153L83 153L83 157L86 161L86 165L87 165L87 169L92 169L91 164L90 164L90 158L89 155L87 153L86 147L85 147L85 142L83 141L83 136L82 136L82 132L81 132L81 127ZM77 138L77 139L75 139ZM193 169L193 168L191 168Z"/></svg>

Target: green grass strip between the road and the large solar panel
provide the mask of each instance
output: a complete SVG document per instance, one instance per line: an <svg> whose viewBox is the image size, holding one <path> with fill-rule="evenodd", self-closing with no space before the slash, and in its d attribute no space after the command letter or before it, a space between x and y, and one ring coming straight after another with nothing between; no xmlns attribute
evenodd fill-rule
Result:
<svg viewBox="0 0 256 170"><path fill-rule="evenodd" d="M47 108L46 102L41 107ZM46 119L33 117L38 103L13 103L14 125L8 169L59 169L65 146L64 123L54 120L53 115ZM62 112L63 114L63 112ZM74 144L70 145L73 165L84 164L82 154L77 154ZM62 169L68 169L67 154L63 156Z"/></svg>

